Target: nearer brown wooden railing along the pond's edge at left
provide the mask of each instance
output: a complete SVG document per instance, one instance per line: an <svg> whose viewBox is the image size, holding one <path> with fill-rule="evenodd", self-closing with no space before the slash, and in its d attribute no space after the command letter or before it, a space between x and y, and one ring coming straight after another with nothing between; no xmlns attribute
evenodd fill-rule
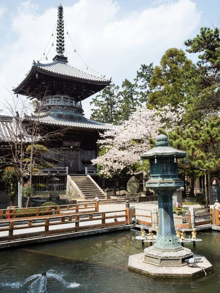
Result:
<svg viewBox="0 0 220 293"><path fill-rule="evenodd" d="M57 219L57 221L54 221L54 219ZM75 213L74 215L54 215L53 222L50 221L51 216L44 217L41 220L44 220L44 223L32 223L32 220L28 219L25 225L15 225L16 223L19 224L21 221L23 222L23 220L7 220L6 222L8 223L8 227L0 228L0 235L2 235L1 232L6 232L7 235L0 236L0 242L48 236L52 234L77 232L82 230L93 230L119 225L129 225L130 208L117 211L106 211L102 213L90 212L83 215L82 213ZM96 221L96 223L93 224L93 221ZM53 228L51 230L50 228L54 226L57 228Z"/></svg>

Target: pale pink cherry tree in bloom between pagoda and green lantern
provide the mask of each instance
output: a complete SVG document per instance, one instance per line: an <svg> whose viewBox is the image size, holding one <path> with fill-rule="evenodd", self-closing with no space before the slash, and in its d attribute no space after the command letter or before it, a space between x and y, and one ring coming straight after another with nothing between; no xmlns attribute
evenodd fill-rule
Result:
<svg viewBox="0 0 220 293"><path fill-rule="evenodd" d="M174 129L184 113L184 105L177 109L170 105L154 109L142 106L123 125L100 134L99 156L92 160L93 165L98 166L99 175L110 179L124 170L130 174L138 173L140 155L154 146L158 130Z"/></svg>

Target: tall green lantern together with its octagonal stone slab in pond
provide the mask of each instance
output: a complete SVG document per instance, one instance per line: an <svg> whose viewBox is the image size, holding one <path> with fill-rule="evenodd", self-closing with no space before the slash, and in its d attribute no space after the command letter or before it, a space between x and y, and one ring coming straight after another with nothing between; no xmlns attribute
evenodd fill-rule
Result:
<svg viewBox="0 0 220 293"><path fill-rule="evenodd" d="M154 246L144 253L131 255L128 267L134 271L160 277L193 277L200 274L201 268L189 268L186 259L193 252L178 243L174 226L172 196L183 186L178 178L177 159L186 157L186 152L170 147L166 135L158 135L156 147L141 155L142 160L150 160L150 179L146 186L158 195L159 225ZM202 266L209 270L212 265L202 257Z"/></svg>

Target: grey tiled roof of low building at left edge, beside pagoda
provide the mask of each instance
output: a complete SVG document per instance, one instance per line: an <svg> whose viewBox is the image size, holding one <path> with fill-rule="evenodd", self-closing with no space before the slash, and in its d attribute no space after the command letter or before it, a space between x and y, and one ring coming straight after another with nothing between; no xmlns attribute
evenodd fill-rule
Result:
<svg viewBox="0 0 220 293"><path fill-rule="evenodd" d="M22 131L21 129L22 128ZM17 138L18 142L30 143L31 137L27 133L24 125L21 126L17 122L16 118L10 116L0 116L0 142L15 141Z"/></svg>

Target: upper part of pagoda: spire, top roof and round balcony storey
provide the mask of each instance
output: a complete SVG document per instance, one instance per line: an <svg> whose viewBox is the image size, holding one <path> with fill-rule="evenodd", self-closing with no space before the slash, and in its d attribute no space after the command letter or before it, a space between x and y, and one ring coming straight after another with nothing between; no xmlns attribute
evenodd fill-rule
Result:
<svg viewBox="0 0 220 293"><path fill-rule="evenodd" d="M58 6L56 51L52 63L34 61L25 79L13 91L38 100L36 112L40 110L44 123L56 123L56 118L86 121L81 102L109 85L110 79L91 75L68 64L67 57L64 56L61 4ZM60 123L63 124L62 121Z"/></svg>

